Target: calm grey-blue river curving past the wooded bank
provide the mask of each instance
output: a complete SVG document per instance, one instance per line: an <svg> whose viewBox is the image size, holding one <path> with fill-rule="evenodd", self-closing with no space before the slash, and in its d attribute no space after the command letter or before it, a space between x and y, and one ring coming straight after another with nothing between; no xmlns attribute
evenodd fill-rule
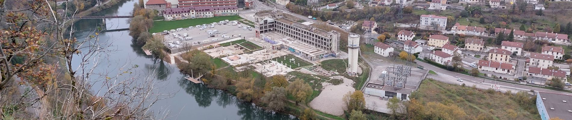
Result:
<svg viewBox="0 0 572 120"><path fill-rule="evenodd" d="M122 1L93 15L130 15L136 2L137 0ZM128 19L106 19L106 27L128 28L126 20ZM75 37L84 40L89 32L96 30L100 24L102 24L101 19L78 20L74 24L74 29L79 30ZM154 72L161 75L156 78L160 85L164 85L161 91L178 91L174 97L158 101L152 107L153 110L170 110L170 118L167 119L296 119L289 114L267 112L252 103L240 102L235 96L223 90L206 88L204 85L186 80L176 65L146 56L140 46L132 43L129 31L100 34L98 39L112 43L113 47L109 49L117 51L106 53L108 59L102 60L95 72L114 73L121 65L138 65L139 67L133 71L135 75L145 76ZM74 61L80 60L76 57ZM73 63L73 66L77 67L79 64Z"/></svg>

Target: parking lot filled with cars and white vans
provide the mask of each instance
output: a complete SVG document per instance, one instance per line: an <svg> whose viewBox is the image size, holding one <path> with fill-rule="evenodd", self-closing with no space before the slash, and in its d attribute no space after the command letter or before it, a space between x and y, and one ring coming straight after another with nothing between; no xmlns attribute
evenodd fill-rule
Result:
<svg viewBox="0 0 572 120"><path fill-rule="evenodd" d="M210 26L210 24L209 24ZM213 28L205 28L204 30L200 30L200 28L192 28L192 29L188 29L188 28L183 28L182 31L175 31L175 32L169 32L168 35L164 35L165 37L165 45L167 47L169 47L168 43L169 42L173 42L173 44L177 45L176 42L180 42L180 44L178 44L180 47L182 47L183 45L187 44L187 45L200 45L198 43L201 44L205 44L206 43L212 43L212 42L220 42L222 40L228 40L228 39L232 39L232 38L236 38L239 37L239 34L241 35L241 38L252 38L254 36L254 28L252 28L252 30L243 30L243 27L239 27L239 26L243 26L246 27L245 24L241 23L241 24L237 24L236 26L232 26L229 24L215 24L215 27ZM194 26L193 26L194 27ZM213 37L208 37L209 34L206 31L209 30L218 30L220 32L220 34L214 34ZM226 33L225 33L226 32ZM177 34L177 35L184 35L184 34L188 34L189 37L192 37L191 40L181 40L177 37L175 37L173 34ZM223 35L228 35L231 36L230 38L223 38ZM233 36L236 35L236 36ZM185 38L184 36L180 36L182 38ZM213 39L218 39L216 41L213 41ZM193 44L193 43L197 43L197 44Z"/></svg>

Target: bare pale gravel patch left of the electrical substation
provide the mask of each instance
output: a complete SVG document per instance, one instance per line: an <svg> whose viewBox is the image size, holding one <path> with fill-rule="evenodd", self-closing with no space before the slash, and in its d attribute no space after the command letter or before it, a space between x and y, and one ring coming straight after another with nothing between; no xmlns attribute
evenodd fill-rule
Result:
<svg viewBox="0 0 572 120"><path fill-rule="evenodd" d="M344 80L344 83L340 85L330 84L324 86L320 95L310 102L310 106L313 109L320 110L324 113L338 116L343 115L346 107L344 105L344 101L341 99L344 97L345 93L355 91L352 87L353 81L342 76L333 76L331 78L340 78L341 80Z"/></svg>

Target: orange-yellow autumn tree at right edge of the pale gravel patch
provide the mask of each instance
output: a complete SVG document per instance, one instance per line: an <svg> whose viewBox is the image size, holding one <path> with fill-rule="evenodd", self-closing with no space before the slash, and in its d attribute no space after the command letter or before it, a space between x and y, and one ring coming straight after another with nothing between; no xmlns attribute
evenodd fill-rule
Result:
<svg viewBox="0 0 572 120"><path fill-rule="evenodd" d="M363 92L360 90L344 94L343 101L344 104L348 107L348 111L361 111L366 107L366 98L363 97Z"/></svg>

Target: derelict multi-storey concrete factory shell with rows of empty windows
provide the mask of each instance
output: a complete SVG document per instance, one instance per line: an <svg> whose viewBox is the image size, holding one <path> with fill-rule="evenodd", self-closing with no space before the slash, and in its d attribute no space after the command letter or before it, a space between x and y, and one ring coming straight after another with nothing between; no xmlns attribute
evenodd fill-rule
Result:
<svg viewBox="0 0 572 120"><path fill-rule="evenodd" d="M283 18L282 14L283 11L272 11L255 15L256 36L309 60L339 55L340 33Z"/></svg>

